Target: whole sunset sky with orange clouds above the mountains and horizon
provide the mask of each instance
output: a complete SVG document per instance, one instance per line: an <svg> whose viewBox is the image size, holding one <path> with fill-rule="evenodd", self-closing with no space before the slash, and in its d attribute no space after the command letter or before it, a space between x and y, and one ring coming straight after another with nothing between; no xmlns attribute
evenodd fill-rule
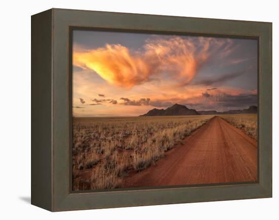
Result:
<svg viewBox="0 0 279 220"><path fill-rule="evenodd" d="M257 105L257 40L74 30L73 116Z"/></svg>

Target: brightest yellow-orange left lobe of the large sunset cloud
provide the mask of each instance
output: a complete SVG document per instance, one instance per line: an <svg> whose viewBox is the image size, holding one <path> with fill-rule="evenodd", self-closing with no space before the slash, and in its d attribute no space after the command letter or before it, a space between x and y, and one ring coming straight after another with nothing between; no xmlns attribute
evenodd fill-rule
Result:
<svg viewBox="0 0 279 220"><path fill-rule="evenodd" d="M88 52L74 52L74 65L89 68L110 84L131 88L148 80L149 66L140 58L130 54L121 45L109 45Z"/></svg>

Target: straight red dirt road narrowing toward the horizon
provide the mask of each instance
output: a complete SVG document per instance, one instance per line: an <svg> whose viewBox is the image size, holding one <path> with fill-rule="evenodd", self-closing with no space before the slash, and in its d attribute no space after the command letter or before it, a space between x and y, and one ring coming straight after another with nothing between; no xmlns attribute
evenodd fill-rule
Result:
<svg viewBox="0 0 279 220"><path fill-rule="evenodd" d="M123 188L256 181L257 141L214 117L155 165L123 180Z"/></svg>

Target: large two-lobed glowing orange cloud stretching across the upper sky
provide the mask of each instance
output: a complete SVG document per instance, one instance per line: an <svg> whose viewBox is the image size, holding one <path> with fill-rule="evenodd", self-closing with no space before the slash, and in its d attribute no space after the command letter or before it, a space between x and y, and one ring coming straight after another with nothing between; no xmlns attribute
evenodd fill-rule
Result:
<svg viewBox="0 0 279 220"><path fill-rule="evenodd" d="M176 85L192 81L198 69L229 40L181 38L147 40L143 50L130 51L122 45L82 51L74 47L73 64L94 70L108 83L130 89L165 73ZM225 47L227 48L227 47ZM231 48L228 47L228 53Z"/></svg>

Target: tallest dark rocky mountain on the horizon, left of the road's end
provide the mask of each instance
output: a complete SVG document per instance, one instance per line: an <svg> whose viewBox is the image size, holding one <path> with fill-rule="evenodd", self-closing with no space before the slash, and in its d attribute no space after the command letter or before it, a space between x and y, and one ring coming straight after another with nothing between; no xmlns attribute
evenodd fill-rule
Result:
<svg viewBox="0 0 279 220"><path fill-rule="evenodd" d="M199 115L195 109L189 109L182 104L174 104L166 109L154 108L142 116L193 116Z"/></svg>

